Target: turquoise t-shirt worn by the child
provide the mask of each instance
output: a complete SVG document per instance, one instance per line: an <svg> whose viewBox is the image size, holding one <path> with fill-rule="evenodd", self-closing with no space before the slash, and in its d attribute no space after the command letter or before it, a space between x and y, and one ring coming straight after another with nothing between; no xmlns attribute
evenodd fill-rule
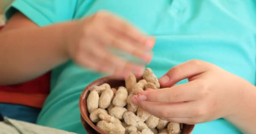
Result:
<svg viewBox="0 0 256 134"><path fill-rule="evenodd" d="M148 67L157 77L177 64L201 59L256 85L254 0L16 0L11 7L8 18L17 9L39 26L109 10L156 36L154 58ZM71 61L53 69L51 93L37 123L85 133L78 101L85 86L99 77L102 75ZM192 134L240 133L218 119L197 124Z"/></svg>

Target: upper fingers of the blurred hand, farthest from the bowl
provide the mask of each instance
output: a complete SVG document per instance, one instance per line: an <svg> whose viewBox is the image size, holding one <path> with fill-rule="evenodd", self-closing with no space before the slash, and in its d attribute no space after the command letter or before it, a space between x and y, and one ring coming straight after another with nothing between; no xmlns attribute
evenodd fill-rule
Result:
<svg viewBox="0 0 256 134"><path fill-rule="evenodd" d="M95 23L101 27L96 34L97 38L100 37L104 44L114 46L147 62L151 60L149 51L155 44L154 38L141 33L134 26L111 13L100 11L94 16Z"/></svg>

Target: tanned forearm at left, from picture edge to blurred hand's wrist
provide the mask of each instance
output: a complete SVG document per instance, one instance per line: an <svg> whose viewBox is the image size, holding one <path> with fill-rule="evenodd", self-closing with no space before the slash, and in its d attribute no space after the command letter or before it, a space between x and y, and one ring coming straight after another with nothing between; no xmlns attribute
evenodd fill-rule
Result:
<svg viewBox="0 0 256 134"><path fill-rule="evenodd" d="M65 33L70 23L0 32L0 85L33 79L67 61Z"/></svg>

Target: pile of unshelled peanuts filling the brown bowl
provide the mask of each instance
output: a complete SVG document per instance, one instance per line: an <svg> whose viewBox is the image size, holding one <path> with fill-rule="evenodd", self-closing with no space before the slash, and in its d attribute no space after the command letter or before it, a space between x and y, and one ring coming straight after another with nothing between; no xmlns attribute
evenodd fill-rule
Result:
<svg viewBox="0 0 256 134"><path fill-rule="evenodd" d="M182 124L159 119L131 102L133 95L148 88L160 88L150 68L138 82L130 74L125 87L117 90L107 83L91 88L87 98L89 118L107 134L180 134Z"/></svg>

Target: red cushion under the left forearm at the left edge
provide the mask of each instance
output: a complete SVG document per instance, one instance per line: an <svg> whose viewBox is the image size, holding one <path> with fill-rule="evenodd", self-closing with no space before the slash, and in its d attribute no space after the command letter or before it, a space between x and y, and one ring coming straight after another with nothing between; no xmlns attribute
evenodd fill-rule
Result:
<svg viewBox="0 0 256 134"><path fill-rule="evenodd" d="M1 86L0 103L42 108L50 92L50 73L19 85Z"/></svg>

